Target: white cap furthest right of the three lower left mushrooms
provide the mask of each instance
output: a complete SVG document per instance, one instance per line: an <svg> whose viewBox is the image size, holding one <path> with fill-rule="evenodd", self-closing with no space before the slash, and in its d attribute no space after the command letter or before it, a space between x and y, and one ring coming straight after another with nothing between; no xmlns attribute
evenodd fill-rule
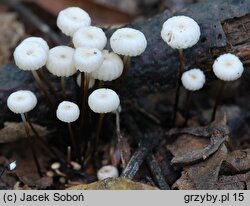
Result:
<svg viewBox="0 0 250 206"><path fill-rule="evenodd" d="M119 96L112 89L97 89L89 95L88 104L95 113L108 113L120 105Z"/></svg>

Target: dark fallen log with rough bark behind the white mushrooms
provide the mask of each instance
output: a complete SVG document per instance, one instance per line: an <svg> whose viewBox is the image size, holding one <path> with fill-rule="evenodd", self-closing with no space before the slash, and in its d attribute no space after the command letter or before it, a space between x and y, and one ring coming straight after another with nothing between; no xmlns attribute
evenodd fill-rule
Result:
<svg viewBox="0 0 250 206"><path fill-rule="evenodd" d="M186 69L199 67L206 72L207 78L212 80L214 76L210 72L211 65L214 59L224 52L238 55L246 68L250 66L249 0L209 0L191 5L175 14L165 11L149 20L140 20L130 25L145 34L148 47L141 56L132 58L132 68L120 92L125 99L137 99L153 92L164 92L175 87L178 54L176 50L167 46L160 36L163 22L173 15L187 15L194 18L202 31L198 44L185 50ZM112 32L113 30L108 30L107 35L110 36ZM57 88L59 88L58 85L55 83ZM22 72L13 65L2 67L0 69L2 110L0 123L14 118L7 110L6 98L11 91L20 88L33 91L37 88L30 73ZM76 91L74 84L71 84L69 91ZM40 98L42 98L41 94ZM39 107L39 111L47 111L46 106Z"/></svg>

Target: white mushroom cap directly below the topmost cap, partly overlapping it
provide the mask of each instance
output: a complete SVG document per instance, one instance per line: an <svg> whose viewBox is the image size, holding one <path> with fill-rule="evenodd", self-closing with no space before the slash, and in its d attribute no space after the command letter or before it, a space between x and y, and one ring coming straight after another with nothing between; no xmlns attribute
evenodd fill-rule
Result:
<svg viewBox="0 0 250 206"><path fill-rule="evenodd" d="M73 35L73 44L77 47L90 47L102 50L107 43L107 37L102 29L88 26L78 29Z"/></svg>

